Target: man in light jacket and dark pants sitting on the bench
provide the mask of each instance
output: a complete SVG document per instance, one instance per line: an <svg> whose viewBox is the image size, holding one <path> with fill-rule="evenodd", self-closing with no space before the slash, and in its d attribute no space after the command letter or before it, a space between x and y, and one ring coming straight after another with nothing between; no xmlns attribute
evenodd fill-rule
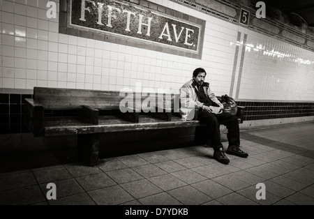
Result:
<svg viewBox="0 0 314 219"><path fill-rule="evenodd" d="M214 148L214 158L223 164L230 163L225 156L223 144L220 142L220 124L227 127L227 139L229 146L226 153L241 158L247 158L248 153L242 151L240 147L240 132L237 116L228 112L223 112L223 104L219 102L215 94L211 91L209 83L204 82L207 73L203 68L197 68L193 72L193 79L186 82L180 89L181 113L185 109L197 109L199 113L197 120L207 124L205 136L207 142L211 136L211 146Z"/></svg>

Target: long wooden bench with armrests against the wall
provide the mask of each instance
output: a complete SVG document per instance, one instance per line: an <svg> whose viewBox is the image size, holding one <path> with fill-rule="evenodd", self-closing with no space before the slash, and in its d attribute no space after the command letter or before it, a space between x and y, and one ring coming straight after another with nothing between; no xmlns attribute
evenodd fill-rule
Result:
<svg viewBox="0 0 314 219"><path fill-rule="evenodd" d="M178 94L149 93L150 100L156 101L145 104L156 112L144 112L142 105L147 94L131 94L34 87L33 99L25 99L25 124L34 137L76 135L77 155L89 165L98 164L100 133L203 126L197 120L182 121L174 109ZM128 112L122 113L120 104L126 97L134 104L125 105ZM238 114L241 122L244 107L239 107Z"/></svg>

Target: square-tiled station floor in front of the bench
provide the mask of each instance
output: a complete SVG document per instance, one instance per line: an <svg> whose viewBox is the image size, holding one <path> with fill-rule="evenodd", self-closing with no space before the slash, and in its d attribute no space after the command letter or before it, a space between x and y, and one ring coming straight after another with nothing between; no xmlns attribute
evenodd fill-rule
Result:
<svg viewBox="0 0 314 219"><path fill-rule="evenodd" d="M314 123L241 131L248 158L203 146L73 163L67 151L0 156L0 204L314 204ZM223 133L225 137L225 133ZM225 148L227 142L223 143ZM47 200L48 183L57 199ZM257 183L264 183L266 199Z"/></svg>

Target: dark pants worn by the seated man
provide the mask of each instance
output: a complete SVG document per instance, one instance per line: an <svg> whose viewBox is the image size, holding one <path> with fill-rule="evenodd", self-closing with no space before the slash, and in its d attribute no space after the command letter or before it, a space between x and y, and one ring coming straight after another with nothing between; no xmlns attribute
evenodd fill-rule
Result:
<svg viewBox="0 0 314 219"><path fill-rule="evenodd" d="M227 139L229 146L240 145L240 131L237 116L233 116L228 112L212 114L207 110L202 110L199 112L197 120L199 120L201 123L207 124L207 134L204 136L204 140L206 142L211 140L211 146L213 146L215 151L223 148L223 144L221 144L220 140L220 124L223 124L227 127Z"/></svg>

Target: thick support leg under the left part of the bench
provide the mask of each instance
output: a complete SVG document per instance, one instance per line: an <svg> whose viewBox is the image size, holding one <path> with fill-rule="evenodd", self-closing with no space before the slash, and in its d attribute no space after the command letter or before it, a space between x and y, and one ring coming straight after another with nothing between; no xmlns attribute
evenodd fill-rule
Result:
<svg viewBox="0 0 314 219"><path fill-rule="evenodd" d="M77 156L91 166L98 165L99 134L77 135Z"/></svg>

